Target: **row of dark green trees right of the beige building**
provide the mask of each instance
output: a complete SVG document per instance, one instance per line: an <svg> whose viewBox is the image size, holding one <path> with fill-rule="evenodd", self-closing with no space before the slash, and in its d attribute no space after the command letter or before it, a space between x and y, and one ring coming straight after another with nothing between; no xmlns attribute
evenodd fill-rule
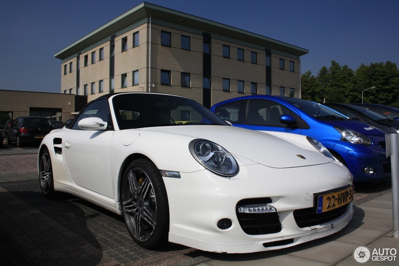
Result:
<svg viewBox="0 0 399 266"><path fill-rule="evenodd" d="M302 98L321 103L380 103L399 107L399 69L392 62L361 64L356 71L331 61L330 67L323 66L318 75L310 71L301 76Z"/></svg>

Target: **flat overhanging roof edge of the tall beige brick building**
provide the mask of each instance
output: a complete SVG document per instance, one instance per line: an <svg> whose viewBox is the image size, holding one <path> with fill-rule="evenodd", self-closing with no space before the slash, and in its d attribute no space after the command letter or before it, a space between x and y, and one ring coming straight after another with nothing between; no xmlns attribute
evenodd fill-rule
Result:
<svg viewBox="0 0 399 266"><path fill-rule="evenodd" d="M132 25L134 22L143 20L145 18L156 18L157 20L162 20L178 25L184 25L197 30L219 34L236 40L241 40L244 42L249 42L263 46L265 48L278 50L295 56L303 56L308 54L309 50L280 42L265 36L227 26L218 22L211 20L206 20L204 18L199 18L197 16L192 16L186 13L178 12L169 8L164 8L162 6L157 6L154 4L149 4L142 2L138 6L130 9L119 17L111 20L107 24L101 26L97 30L87 34L83 38L77 40L73 44L67 46L63 50L54 54L55 58L64 60L69 56L73 56L78 52L84 50L88 46L99 42L124 28Z"/></svg>

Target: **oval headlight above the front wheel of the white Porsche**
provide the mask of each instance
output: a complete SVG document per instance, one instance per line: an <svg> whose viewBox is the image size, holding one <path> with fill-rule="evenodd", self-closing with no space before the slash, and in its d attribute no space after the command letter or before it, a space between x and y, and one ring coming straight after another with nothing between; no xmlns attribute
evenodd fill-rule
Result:
<svg viewBox="0 0 399 266"><path fill-rule="evenodd" d="M234 157L223 147L205 139L194 139L189 144L194 159L209 171L222 177L232 177L238 173Z"/></svg>

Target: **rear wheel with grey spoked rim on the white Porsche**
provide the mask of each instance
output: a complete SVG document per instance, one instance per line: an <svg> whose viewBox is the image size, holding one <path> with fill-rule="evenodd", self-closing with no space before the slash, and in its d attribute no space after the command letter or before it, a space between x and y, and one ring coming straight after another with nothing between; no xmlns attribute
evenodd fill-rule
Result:
<svg viewBox="0 0 399 266"><path fill-rule="evenodd" d="M55 196L53 166L51 165L51 158L49 150L46 148L41 153L39 165L39 179L41 193L46 199L52 199Z"/></svg>

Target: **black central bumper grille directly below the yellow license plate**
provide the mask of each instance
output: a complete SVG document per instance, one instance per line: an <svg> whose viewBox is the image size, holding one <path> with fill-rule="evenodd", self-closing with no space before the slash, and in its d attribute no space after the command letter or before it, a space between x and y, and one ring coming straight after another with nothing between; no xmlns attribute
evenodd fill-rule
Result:
<svg viewBox="0 0 399 266"><path fill-rule="evenodd" d="M344 214L344 212L346 212L348 206L349 205L345 205L340 208L322 213L314 212L313 207L294 210L295 222L300 228L324 224L340 217L342 214Z"/></svg>

